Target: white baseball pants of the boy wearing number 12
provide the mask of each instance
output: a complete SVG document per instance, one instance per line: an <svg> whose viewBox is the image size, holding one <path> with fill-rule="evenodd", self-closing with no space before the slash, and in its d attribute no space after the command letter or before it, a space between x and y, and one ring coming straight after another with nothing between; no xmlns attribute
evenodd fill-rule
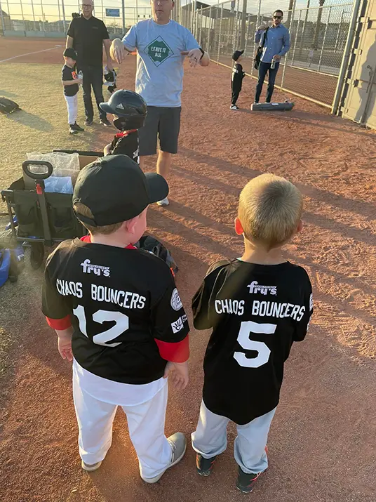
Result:
<svg viewBox="0 0 376 502"><path fill-rule="evenodd" d="M164 385L149 401L122 407L144 478L161 474L171 461L171 447L164 433L167 397L168 385ZM105 458L111 447L117 406L90 396L75 378L73 399L79 423L80 456L85 463L97 463Z"/></svg>

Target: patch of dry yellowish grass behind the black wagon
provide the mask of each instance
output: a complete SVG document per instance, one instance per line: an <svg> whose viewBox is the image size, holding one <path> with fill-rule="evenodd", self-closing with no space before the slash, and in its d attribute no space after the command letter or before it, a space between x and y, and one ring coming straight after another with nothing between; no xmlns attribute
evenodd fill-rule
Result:
<svg viewBox="0 0 376 502"><path fill-rule="evenodd" d="M2 189L21 176L25 152L48 152L56 148L88 150L98 144L98 129L100 132L103 129L99 124L76 136L68 134L61 65L3 63L0 67L0 95L15 100L22 108L20 112L0 117ZM83 124L84 119L80 99L77 121Z"/></svg>

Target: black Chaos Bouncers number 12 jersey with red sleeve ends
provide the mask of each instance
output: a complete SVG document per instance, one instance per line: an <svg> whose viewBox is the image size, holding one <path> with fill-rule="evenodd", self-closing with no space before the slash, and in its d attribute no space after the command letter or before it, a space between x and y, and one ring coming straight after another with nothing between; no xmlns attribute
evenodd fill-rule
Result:
<svg viewBox="0 0 376 502"><path fill-rule="evenodd" d="M166 359L187 359L168 354L187 352L189 331L168 265L87 239L62 242L48 257L43 314L55 329L56 319L71 317L74 358L90 373L133 384L161 378Z"/></svg>

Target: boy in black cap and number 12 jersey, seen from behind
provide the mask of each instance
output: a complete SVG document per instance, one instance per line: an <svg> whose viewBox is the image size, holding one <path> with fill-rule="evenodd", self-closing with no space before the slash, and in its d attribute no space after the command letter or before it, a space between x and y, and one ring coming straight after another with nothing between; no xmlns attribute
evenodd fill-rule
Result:
<svg viewBox="0 0 376 502"><path fill-rule="evenodd" d="M184 435L167 438L164 425L167 376L179 389L188 381L187 315L168 265L134 246L147 207L167 195L162 176L144 174L126 155L84 167L73 204L90 234L51 253L42 293L60 355L73 359L82 468L100 467L121 406L147 483L159 481L186 449Z"/></svg>

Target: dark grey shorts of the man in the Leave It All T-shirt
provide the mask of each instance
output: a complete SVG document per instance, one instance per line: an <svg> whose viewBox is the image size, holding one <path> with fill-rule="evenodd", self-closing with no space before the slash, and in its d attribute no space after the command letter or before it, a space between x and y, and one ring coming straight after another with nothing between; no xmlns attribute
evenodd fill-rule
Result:
<svg viewBox="0 0 376 502"><path fill-rule="evenodd" d="M145 126L138 130L140 155L156 154L158 138L162 152L177 153L181 111L181 107L147 107Z"/></svg>

